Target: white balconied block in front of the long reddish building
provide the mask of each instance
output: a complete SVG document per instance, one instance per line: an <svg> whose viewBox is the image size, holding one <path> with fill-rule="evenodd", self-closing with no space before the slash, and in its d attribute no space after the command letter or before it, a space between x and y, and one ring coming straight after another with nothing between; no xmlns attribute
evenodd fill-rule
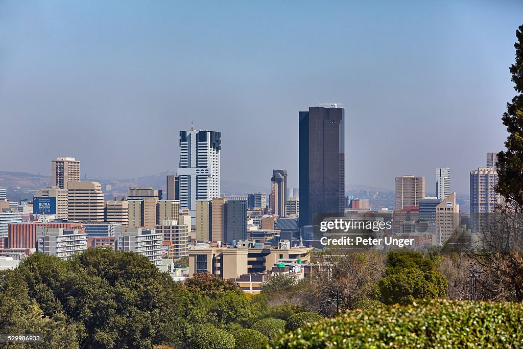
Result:
<svg viewBox="0 0 523 349"><path fill-rule="evenodd" d="M37 227L37 252L62 259L87 250L87 235L78 229Z"/></svg>

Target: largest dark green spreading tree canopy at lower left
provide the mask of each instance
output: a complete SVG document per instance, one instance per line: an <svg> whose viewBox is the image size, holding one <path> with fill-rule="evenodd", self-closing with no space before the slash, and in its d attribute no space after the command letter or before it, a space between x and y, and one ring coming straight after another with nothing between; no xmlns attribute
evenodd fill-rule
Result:
<svg viewBox="0 0 523 349"><path fill-rule="evenodd" d="M145 257L90 249L69 261L32 254L15 273L46 316L63 312L85 348L179 342L183 289Z"/></svg>

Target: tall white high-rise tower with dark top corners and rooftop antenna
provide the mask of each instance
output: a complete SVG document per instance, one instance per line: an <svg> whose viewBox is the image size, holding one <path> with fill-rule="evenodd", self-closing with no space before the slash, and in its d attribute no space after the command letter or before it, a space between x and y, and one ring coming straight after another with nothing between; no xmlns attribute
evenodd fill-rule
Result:
<svg viewBox="0 0 523 349"><path fill-rule="evenodd" d="M196 201L220 197L221 133L180 131L180 208L196 217Z"/></svg>

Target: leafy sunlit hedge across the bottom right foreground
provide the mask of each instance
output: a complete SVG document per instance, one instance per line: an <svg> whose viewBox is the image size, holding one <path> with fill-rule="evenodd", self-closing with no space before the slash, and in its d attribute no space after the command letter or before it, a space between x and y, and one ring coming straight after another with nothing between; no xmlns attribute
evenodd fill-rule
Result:
<svg viewBox="0 0 523 349"><path fill-rule="evenodd" d="M520 348L523 305L425 300L349 311L282 335L273 348Z"/></svg>

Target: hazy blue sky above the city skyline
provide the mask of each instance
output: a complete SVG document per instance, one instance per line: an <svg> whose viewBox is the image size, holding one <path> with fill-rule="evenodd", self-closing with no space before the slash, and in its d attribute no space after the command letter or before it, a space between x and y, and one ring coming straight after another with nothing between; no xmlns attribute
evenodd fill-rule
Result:
<svg viewBox="0 0 523 349"><path fill-rule="evenodd" d="M222 132L222 178L298 186L298 112L345 106L346 184L469 171L506 138L523 2L0 1L0 170L175 171Z"/></svg>

